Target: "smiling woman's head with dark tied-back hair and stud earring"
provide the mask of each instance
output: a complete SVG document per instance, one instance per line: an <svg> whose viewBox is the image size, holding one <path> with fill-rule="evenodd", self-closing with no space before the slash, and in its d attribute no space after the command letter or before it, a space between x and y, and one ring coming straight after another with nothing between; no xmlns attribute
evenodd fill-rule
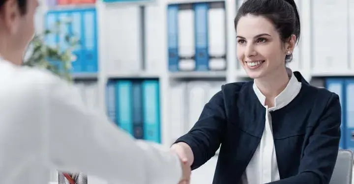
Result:
<svg viewBox="0 0 354 184"><path fill-rule="evenodd" d="M300 36L292 0L247 0L237 13L235 28L237 58L250 78L287 76L285 63L291 61Z"/></svg>

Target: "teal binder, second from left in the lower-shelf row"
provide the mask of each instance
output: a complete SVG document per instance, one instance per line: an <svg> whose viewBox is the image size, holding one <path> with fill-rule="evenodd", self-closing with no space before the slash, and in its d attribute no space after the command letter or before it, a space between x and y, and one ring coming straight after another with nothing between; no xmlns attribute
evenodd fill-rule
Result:
<svg viewBox="0 0 354 184"><path fill-rule="evenodd" d="M133 135L132 82L118 80L116 84L116 121L118 127Z"/></svg>

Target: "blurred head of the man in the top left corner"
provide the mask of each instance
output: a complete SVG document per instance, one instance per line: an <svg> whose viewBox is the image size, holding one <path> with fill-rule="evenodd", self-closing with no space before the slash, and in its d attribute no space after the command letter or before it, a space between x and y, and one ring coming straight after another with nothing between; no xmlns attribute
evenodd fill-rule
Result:
<svg viewBox="0 0 354 184"><path fill-rule="evenodd" d="M6 59L22 60L34 35L37 7L37 0L0 0L0 54Z"/></svg>

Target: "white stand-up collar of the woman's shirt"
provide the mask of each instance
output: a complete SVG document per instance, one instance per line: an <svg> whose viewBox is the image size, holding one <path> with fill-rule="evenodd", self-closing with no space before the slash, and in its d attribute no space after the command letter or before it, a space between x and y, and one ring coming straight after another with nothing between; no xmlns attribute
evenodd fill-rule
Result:
<svg viewBox="0 0 354 184"><path fill-rule="evenodd" d="M278 96L275 97L274 107L272 107L273 110L280 109L285 105L288 105L292 100L294 100L296 95L300 92L301 82L297 81L296 77L294 76L290 68L287 68L287 72L290 77L290 80L287 86L285 87L285 89ZM266 96L262 94L262 92L259 90L259 88L256 86L255 83L253 83L253 90L256 93L260 103L266 106L265 105Z"/></svg>

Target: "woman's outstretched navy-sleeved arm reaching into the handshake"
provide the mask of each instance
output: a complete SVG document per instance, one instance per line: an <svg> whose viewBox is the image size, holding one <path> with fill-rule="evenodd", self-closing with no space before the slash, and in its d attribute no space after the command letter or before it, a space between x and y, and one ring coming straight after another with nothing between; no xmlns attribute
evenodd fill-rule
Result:
<svg viewBox="0 0 354 184"><path fill-rule="evenodd" d="M204 106L202 114L193 128L175 142L175 144L179 142L187 144L181 146L185 147L185 152L188 156L192 155L192 169L200 167L215 155L220 146L225 128L224 97L222 91L220 91ZM188 154L190 152L188 151L189 149L191 149L193 154Z"/></svg>

